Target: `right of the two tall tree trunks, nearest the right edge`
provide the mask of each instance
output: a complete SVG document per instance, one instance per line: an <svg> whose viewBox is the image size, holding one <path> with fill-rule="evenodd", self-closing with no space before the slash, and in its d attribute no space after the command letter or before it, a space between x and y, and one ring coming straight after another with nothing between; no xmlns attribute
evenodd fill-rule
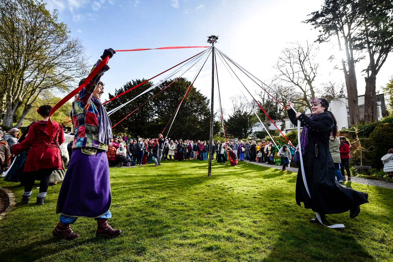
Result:
<svg viewBox="0 0 393 262"><path fill-rule="evenodd" d="M364 93L364 122L371 123L378 120L376 113L375 74L364 77L366 90Z"/></svg>

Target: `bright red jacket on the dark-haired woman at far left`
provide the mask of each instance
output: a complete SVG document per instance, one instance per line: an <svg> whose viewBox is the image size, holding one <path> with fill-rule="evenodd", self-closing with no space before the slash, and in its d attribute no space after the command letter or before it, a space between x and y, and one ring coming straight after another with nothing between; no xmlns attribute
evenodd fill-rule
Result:
<svg viewBox="0 0 393 262"><path fill-rule="evenodd" d="M14 155L19 155L31 147L23 172L32 172L42 168L62 169L60 148L54 140L48 141L50 138L46 122L41 120L33 123L28 130L26 138L21 143L12 146ZM52 121L52 124L53 137L61 145L64 142L63 127L56 121Z"/></svg>

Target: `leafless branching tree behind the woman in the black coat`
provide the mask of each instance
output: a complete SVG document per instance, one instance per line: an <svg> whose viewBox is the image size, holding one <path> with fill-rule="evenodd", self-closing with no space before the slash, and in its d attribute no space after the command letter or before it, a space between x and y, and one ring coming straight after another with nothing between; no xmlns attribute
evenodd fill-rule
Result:
<svg viewBox="0 0 393 262"><path fill-rule="evenodd" d="M298 98L292 103L311 110L310 101L315 98L313 82L317 76L318 63L313 57L318 48L307 42L306 46L292 43L290 47L281 51L275 68L279 71L280 79L290 87L295 87Z"/></svg>

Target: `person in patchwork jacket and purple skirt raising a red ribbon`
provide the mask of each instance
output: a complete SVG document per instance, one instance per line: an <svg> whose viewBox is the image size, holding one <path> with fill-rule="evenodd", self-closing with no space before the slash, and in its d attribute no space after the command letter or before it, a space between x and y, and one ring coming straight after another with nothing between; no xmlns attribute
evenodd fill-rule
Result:
<svg viewBox="0 0 393 262"><path fill-rule="evenodd" d="M107 61L115 53L112 48L106 49L101 59ZM105 63L101 59L90 74ZM60 221L52 232L53 236L66 240L79 237L70 227L78 217L95 218L97 236L113 238L121 234L121 230L108 225L108 219L112 217L109 211L112 194L106 151L112 138L112 125L101 103L104 83L100 81L108 70L109 66L105 64L99 72L95 70L97 74L87 84L82 79L79 87L86 85L72 103L72 133L75 137L70 164L57 199L56 213L61 214Z"/></svg>

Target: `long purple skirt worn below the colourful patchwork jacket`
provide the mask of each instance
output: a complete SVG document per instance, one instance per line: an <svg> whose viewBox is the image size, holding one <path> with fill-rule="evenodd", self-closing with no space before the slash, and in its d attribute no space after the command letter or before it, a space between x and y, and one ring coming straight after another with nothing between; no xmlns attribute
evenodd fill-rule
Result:
<svg viewBox="0 0 393 262"><path fill-rule="evenodd" d="M107 153L86 155L73 149L70 164L57 199L56 213L98 218L108 212L112 201Z"/></svg>

